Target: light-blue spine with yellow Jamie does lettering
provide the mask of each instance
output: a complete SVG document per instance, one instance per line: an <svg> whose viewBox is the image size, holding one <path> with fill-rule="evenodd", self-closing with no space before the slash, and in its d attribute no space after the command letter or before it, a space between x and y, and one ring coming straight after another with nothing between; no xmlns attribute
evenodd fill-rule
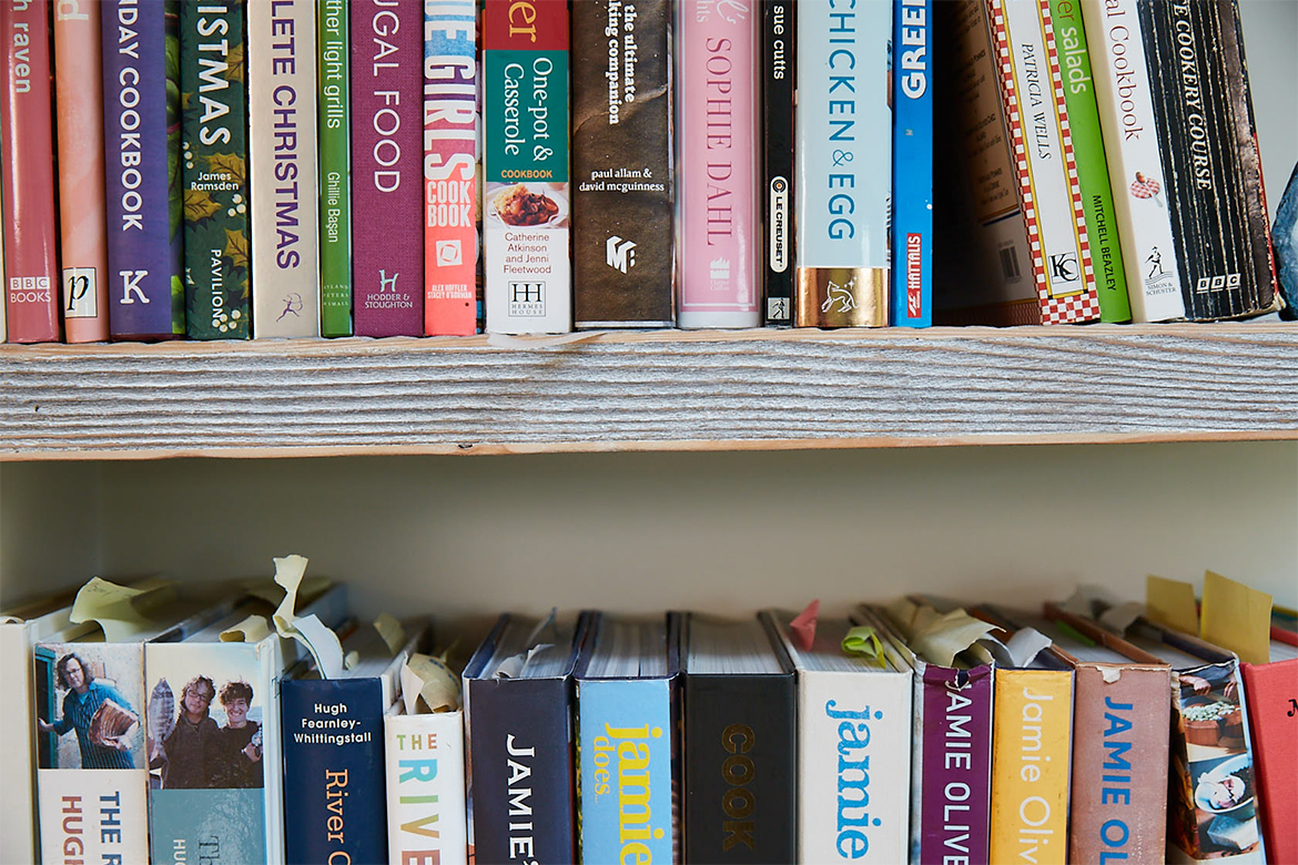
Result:
<svg viewBox="0 0 1298 865"><path fill-rule="evenodd" d="M582 861L670 862L670 680L578 681Z"/></svg>

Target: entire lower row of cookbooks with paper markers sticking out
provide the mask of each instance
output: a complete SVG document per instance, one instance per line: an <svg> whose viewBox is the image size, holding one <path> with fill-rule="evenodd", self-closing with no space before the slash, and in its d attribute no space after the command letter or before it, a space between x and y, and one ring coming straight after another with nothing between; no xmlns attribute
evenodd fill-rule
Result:
<svg viewBox="0 0 1298 865"><path fill-rule="evenodd" d="M1298 857L1298 619L1216 575L1202 625L1155 578L1040 615L504 615L458 670L427 620L356 626L305 564L16 611L0 658L36 717L5 741L39 768L4 753L3 859ZM1224 624L1247 663L1164 619Z"/></svg>

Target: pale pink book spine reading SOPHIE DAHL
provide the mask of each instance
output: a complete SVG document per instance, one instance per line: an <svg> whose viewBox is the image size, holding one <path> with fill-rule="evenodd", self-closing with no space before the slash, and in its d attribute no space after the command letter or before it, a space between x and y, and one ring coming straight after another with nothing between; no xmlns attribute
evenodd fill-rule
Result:
<svg viewBox="0 0 1298 865"><path fill-rule="evenodd" d="M758 327L758 6L680 4L679 267L683 328Z"/></svg>

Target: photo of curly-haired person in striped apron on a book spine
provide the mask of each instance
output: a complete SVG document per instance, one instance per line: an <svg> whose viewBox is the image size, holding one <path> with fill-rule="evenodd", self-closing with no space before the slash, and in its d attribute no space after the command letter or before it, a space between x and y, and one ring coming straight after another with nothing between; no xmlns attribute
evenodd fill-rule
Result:
<svg viewBox="0 0 1298 865"><path fill-rule="evenodd" d="M39 748L42 769L139 765L143 755L135 707L141 695L119 682L123 677L108 655L92 645L38 648L36 729L45 734Z"/></svg>

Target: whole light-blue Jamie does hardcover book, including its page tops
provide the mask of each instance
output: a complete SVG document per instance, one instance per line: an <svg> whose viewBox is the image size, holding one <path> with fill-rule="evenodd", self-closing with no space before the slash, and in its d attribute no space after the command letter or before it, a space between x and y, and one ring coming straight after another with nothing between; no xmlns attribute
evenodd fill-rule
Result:
<svg viewBox="0 0 1298 865"><path fill-rule="evenodd" d="M675 861L679 617L589 617L576 680L580 861Z"/></svg>

